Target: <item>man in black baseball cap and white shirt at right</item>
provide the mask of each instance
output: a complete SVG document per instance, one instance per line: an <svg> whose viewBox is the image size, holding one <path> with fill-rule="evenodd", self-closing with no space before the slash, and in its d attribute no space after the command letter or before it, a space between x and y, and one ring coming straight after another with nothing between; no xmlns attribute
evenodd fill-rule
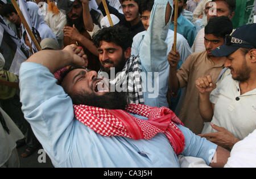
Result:
<svg viewBox="0 0 256 179"><path fill-rule="evenodd" d="M225 67L232 74L217 88L211 76L196 81L201 116L212 121L204 127L201 137L222 147L232 149L236 142L256 129L255 32L256 24L238 27L232 36L225 37L225 45L211 52L216 57L226 57Z"/></svg>

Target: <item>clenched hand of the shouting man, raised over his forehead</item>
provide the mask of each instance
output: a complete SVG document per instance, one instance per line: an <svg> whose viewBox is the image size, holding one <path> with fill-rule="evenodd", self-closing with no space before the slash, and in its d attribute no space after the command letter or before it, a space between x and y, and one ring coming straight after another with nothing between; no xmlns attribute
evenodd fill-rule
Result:
<svg viewBox="0 0 256 179"><path fill-rule="evenodd" d="M84 50L81 46L76 46L75 44L71 44L68 46L65 46L63 49L66 52L69 53L69 55L72 58L72 64L79 65L79 66L85 66L87 61L87 56L84 54Z"/></svg>

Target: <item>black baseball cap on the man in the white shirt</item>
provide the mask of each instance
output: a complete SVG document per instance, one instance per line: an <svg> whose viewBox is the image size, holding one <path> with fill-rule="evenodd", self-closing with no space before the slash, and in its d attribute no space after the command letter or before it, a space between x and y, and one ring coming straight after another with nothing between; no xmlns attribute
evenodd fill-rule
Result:
<svg viewBox="0 0 256 179"><path fill-rule="evenodd" d="M256 24L238 27L232 35L225 36L225 44L212 50L215 57L226 57L239 48L256 49Z"/></svg>

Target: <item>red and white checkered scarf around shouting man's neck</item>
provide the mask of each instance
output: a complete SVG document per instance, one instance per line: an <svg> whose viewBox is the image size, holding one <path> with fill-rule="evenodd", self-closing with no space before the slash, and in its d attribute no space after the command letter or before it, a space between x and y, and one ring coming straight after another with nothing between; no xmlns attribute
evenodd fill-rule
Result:
<svg viewBox="0 0 256 179"><path fill-rule="evenodd" d="M125 110L109 110L86 105L73 105L75 117L96 133L106 136L121 136L131 139L150 140L158 133L166 134L177 154L184 150L185 138L175 125L183 123L172 110L150 107L142 104L129 104ZM129 113L147 117L141 120Z"/></svg>

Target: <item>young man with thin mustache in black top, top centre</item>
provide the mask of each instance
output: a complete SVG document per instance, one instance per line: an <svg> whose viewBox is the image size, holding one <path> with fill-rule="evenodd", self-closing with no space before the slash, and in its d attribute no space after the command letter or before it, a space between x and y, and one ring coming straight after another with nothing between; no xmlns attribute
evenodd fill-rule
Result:
<svg viewBox="0 0 256 179"><path fill-rule="evenodd" d="M98 8L106 15L104 6L101 0L96 0ZM109 7L110 14L114 14L120 20L119 24L129 28L131 36L134 37L137 33L144 31L143 24L141 22L141 16L139 15L139 0L122 0L123 14L118 10L109 6L109 2L106 1Z"/></svg>

